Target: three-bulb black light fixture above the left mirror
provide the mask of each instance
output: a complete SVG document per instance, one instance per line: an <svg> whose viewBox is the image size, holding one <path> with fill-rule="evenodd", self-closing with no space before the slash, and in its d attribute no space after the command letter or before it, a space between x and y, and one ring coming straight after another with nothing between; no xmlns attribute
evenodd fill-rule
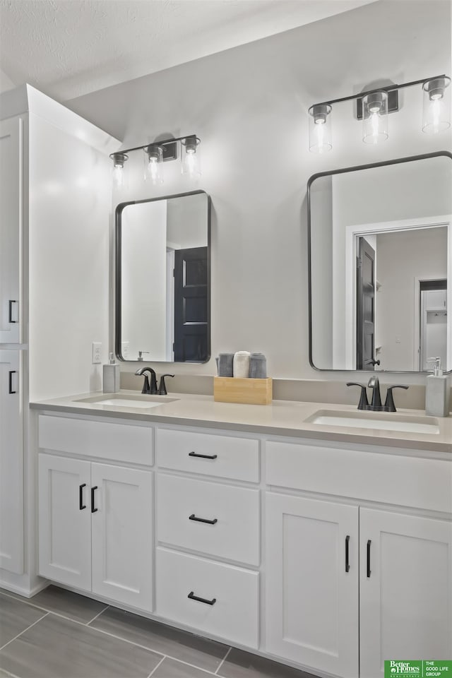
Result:
<svg viewBox="0 0 452 678"><path fill-rule="evenodd" d="M113 161L114 184L117 187L124 186L124 163L128 160L129 153L133 153L135 150L142 150L144 152L145 180L151 182L154 186L162 184L162 163L177 159L178 144L180 144L181 172L186 174L190 179L196 180L201 175L198 149L200 143L201 140L196 134L189 134L187 136L146 143L143 146L126 148L119 153L112 153L110 157Z"/></svg>

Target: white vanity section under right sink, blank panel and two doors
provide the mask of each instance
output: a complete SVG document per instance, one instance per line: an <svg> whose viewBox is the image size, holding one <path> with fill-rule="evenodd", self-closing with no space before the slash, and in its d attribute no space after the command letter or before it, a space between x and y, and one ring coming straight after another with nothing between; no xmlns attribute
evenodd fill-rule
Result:
<svg viewBox="0 0 452 678"><path fill-rule="evenodd" d="M280 486L266 493L266 649L344 678L380 678L384 660L451 657L452 522L426 511L436 501L450 513L450 461L266 447L267 482ZM400 488L383 475L391 464ZM426 476L436 499L422 492ZM343 501L287 493L332 486Z"/></svg>

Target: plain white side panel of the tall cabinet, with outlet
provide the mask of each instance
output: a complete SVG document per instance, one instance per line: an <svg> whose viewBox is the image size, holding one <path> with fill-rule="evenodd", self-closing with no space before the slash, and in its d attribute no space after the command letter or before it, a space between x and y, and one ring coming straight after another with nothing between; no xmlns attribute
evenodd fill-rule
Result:
<svg viewBox="0 0 452 678"><path fill-rule="evenodd" d="M108 158L30 113L30 400L102 388L109 345Z"/></svg>

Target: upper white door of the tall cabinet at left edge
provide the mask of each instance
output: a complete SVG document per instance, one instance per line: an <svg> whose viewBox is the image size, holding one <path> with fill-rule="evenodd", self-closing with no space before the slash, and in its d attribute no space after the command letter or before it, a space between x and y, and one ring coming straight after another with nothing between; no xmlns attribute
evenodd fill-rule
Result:
<svg viewBox="0 0 452 678"><path fill-rule="evenodd" d="M0 343L18 343L22 119L0 122Z"/></svg>

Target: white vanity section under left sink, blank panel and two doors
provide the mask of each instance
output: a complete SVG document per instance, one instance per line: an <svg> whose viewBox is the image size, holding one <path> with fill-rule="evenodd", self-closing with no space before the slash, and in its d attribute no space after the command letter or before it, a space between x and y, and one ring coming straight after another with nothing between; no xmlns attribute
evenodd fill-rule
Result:
<svg viewBox="0 0 452 678"><path fill-rule="evenodd" d="M151 429L45 415L40 448L53 450L58 441L71 455L114 458L118 430L119 439L129 438L124 458L151 458ZM47 451L38 468L40 575L151 612L153 472Z"/></svg>

